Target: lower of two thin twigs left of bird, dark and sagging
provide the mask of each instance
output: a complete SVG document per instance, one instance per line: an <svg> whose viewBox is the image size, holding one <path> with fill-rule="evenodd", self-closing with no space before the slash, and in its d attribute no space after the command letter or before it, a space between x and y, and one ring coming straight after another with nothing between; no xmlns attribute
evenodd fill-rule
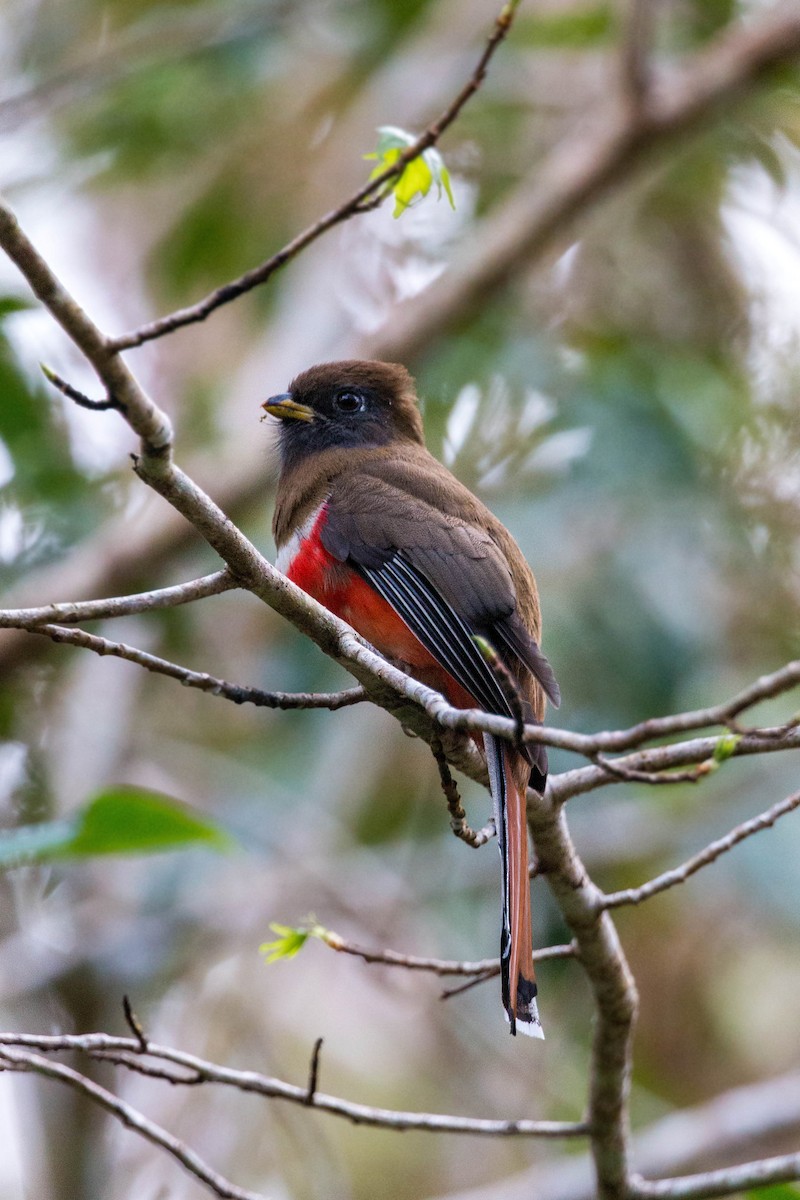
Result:
<svg viewBox="0 0 800 1200"><path fill-rule="evenodd" d="M24 625L17 628L26 628ZM349 704L359 704L366 700L363 688L347 688L343 691L317 692L317 691L261 691L260 688L245 688L241 684L227 683L204 671L190 671L176 662L160 659L156 654L146 650L138 650L134 646L126 646L125 642L112 642L108 637L100 637L97 634L89 634L85 629L71 629L64 625L34 624L28 631L30 634L42 634L53 642L65 642L70 646L80 646L95 654L112 655L116 659L125 659L126 662L134 662L152 671L154 674L168 676L178 679L186 688L197 688L207 691L212 696L222 696L231 700L234 704L255 704L259 708L326 708L335 712L337 708L347 708Z"/></svg>

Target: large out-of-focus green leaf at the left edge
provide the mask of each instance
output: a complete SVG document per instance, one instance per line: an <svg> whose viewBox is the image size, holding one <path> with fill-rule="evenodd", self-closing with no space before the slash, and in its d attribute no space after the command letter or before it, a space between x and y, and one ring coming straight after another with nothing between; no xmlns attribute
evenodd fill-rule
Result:
<svg viewBox="0 0 800 1200"><path fill-rule="evenodd" d="M0 869L55 858L148 854L198 842L227 850L231 838L187 805L142 787L113 787L64 821L0 834Z"/></svg>

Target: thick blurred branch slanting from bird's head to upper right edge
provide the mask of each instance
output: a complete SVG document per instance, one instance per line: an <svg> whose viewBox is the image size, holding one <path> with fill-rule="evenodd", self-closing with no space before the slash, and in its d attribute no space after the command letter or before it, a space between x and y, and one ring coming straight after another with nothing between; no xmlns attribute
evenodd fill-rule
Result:
<svg viewBox="0 0 800 1200"><path fill-rule="evenodd" d="M548 253L577 217L630 181L644 164L745 96L776 66L800 54L800 12L782 4L724 30L687 66L652 86L646 114L616 96L537 162L494 214L479 224L461 258L360 347L365 358L407 362L487 299L507 289Z"/></svg>

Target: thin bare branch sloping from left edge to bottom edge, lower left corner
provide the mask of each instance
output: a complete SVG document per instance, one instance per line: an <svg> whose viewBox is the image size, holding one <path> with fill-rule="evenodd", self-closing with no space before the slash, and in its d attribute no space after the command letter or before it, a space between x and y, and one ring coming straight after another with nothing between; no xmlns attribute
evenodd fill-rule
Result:
<svg viewBox="0 0 800 1200"><path fill-rule="evenodd" d="M0 1049L0 1067L7 1070L23 1070L36 1075L44 1075L48 1079L55 1079L61 1084L66 1084L77 1092L82 1092L94 1104L110 1112L113 1117L128 1129L133 1129L134 1133L152 1142L154 1146L166 1150L190 1175L194 1176L200 1183L204 1183L215 1195L222 1196L224 1200L264 1200L264 1196L255 1192L247 1192L245 1188L237 1188L234 1183L229 1183L222 1175L212 1171L186 1142L167 1133L166 1129L162 1129L161 1126L155 1124L155 1122L143 1116L137 1109L131 1108L130 1104L126 1104L118 1096L108 1092L92 1080L86 1079L85 1075L73 1070L72 1067L52 1062L49 1058L43 1058L41 1055L31 1054L28 1050L10 1049L7 1044L4 1044L2 1049Z"/></svg>

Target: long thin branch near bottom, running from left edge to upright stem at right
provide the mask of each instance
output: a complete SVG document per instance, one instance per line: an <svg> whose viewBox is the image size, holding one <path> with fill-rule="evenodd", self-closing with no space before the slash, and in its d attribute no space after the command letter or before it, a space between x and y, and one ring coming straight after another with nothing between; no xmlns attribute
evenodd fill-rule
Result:
<svg viewBox="0 0 800 1200"><path fill-rule="evenodd" d="M107 1033L85 1034L56 1034L34 1036L29 1033L0 1033L0 1052L11 1055L14 1051L5 1048L26 1048L40 1050L44 1054L59 1050L78 1050L85 1054L112 1052L119 1055L134 1055L137 1062L142 1061L138 1039L118 1038ZM582 1138L588 1133L584 1122L572 1121L495 1121L480 1117L456 1117L437 1112L401 1112L392 1109L378 1109L368 1104L356 1104L350 1100L342 1100L336 1096L326 1096L324 1092L315 1092L313 1103L308 1103L308 1087L297 1087L294 1084L285 1084L283 1080L272 1079L253 1070L234 1070L230 1067L221 1067L217 1063L207 1062L194 1055L185 1054L181 1050L173 1050L172 1046L148 1044L148 1056L156 1062L174 1063L188 1070L192 1076L186 1081L176 1078L170 1079L173 1084L186 1082L187 1086L196 1082L222 1084L227 1087L236 1088L240 1092L252 1092L258 1096L269 1096L276 1099L289 1100L306 1108L313 1108L320 1112L330 1112L333 1116L344 1117L354 1124L375 1126L381 1129L419 1129L427 1133L459 1133L476 1134L488 1138ZM124 1066L133 1066L122 1061ZM55 1063L43 1062L53 1068ZM20 1063L20 1069L37 1069ZM64 1068L66 1069L66 1068ZM82 1076L79 1076L82 1078Z"/></svg>

